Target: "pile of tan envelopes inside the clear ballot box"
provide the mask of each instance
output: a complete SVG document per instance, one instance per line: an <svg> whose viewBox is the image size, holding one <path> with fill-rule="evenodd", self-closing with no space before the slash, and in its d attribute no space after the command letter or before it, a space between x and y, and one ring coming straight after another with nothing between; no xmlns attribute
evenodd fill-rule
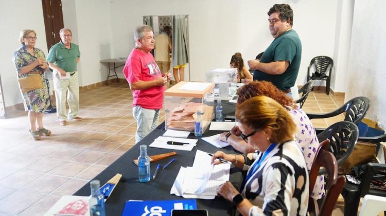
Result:
<svg viewBox="0 0 386 216"><path fill-rule="evenodd" d="M208 121L212 121L213 107L195 102L183 103L174 108L170 113L170 117L166 120L167 127L170 129L194 131L196 111L201 110L201 107L203 107L204 111L202 120L202 125L204 127Z"/></svg>

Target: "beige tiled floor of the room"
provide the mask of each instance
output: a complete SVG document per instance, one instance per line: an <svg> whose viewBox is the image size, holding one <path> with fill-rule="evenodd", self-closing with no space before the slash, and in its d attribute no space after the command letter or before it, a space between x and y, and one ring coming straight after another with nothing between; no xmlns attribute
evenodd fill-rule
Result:
<svg viewBox="0 0 386 216"><path fill-rule="evenodd" d="M329 112L343 102L343 97L311 92L303 109ZM0 119L0 216L43 215L60 196L73 194L134 145L136 123L126 83L82 91L80 104L83 120L65 126L56 114L45 114L52 135L39 141L30 138L27 112ZM326 128L342 119L312 121L314 127ZM343 215L342 202L337 206L334 215Z"/></svg>

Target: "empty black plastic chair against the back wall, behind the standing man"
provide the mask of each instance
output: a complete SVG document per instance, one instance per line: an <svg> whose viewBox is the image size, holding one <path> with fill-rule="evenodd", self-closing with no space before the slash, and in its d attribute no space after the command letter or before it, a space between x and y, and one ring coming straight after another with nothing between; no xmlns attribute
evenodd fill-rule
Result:
<svg viewBox="0 0 386 216"><path fill-rule="evenodd" d="M311 73L311 67L315 67L314 73ZM309 80L325 80L326 94L330 94L331 70L334 67L334 61L328 56L317 56L313 58L308 66L307 82ZM329 68L329 70L328 70Z"/></svg>

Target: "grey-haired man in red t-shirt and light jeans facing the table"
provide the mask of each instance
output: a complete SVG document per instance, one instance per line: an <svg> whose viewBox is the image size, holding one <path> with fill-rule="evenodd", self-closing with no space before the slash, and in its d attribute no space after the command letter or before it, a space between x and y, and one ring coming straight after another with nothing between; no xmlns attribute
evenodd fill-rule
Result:
<svg viewBox="0 0 386 216"><path fill-rule="evenodd" d="M154 49L153 29L140 25L134 31L135 48L130 52L124 75L133 91L133 117L137 121L135 143L158 125L164 100L165 83L171 74L162 75L150 51Z"/></svg>

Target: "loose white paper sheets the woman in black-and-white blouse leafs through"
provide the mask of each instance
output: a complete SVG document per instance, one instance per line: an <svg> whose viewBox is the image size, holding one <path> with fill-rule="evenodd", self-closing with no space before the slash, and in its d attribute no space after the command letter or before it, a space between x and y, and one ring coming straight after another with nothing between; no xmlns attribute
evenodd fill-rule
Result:
<svg viewBox="0 0 386 216"><path fill-rule="evenodd" d="M197 150L192 167L181 167L170 194L188 199L215 199L217 188L229 181L231 165L212 165L212 156Z"/></svg>

